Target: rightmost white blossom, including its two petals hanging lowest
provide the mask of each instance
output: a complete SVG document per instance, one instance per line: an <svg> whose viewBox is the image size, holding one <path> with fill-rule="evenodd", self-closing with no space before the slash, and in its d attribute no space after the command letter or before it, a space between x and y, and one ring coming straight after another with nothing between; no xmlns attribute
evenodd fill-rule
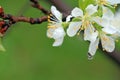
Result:
<svg viewBox="0 0 120 80"><path fill-rule="evenodd" d="M98 43L101 40L102 48L107 52L112 52L115 49L115 37L114 35L119 35L120 30L120 20L118 19L118 14L116 16L113 12L107 7L103 8L103 16L94 18L95 22L102 27L102 30L99 32L99 36L90 41L89 46L89 57L95 55L98 48ZM117 22L116 22L116 20ZM108 35L109 34L109 35ZM118 36L117 36L118 37Z"/></svg>

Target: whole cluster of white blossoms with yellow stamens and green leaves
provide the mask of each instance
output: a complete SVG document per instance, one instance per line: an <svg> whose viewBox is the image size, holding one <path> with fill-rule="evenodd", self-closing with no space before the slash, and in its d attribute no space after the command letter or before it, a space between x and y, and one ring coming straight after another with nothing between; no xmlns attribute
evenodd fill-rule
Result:
<svg viewBox="0 0 120 80"><path fill-rule="evenodd" d="M120 37L120 12L113 13L108 6L115 7L119 3L120 0L96 0L95 4L89 4L84 11L75 7L65 22L62 21L62 14L52 6L48 16L47 36L55 39L53 46L60 46L65 34L73 37L84 31L84 40L90 42L89 58L95 55L99 42L103 50L112 52L116 39ZM98 15L99 10L101 15ZM66 33L63 23L69 24Z"/></svg>

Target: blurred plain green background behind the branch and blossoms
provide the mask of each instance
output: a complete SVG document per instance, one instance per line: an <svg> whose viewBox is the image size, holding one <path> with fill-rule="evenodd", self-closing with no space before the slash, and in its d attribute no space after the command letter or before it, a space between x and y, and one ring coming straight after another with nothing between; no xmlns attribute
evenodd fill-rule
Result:
<svg viewBox="0 0 120 80"><path fill-rule="evenodd" d="M77 0L64 0L71 7ZM50 9L47 0L40 0ZM0 0L6 13L27 17L43 14L29 0ZM17 23L3 38L6 52L0 52L0 80L120 80L120 65L100 50L87 59L88 43L81 36L65 37L60 47L46 37L47 22L37 25ZM119 44L117 49L119 49Z"/></svg>

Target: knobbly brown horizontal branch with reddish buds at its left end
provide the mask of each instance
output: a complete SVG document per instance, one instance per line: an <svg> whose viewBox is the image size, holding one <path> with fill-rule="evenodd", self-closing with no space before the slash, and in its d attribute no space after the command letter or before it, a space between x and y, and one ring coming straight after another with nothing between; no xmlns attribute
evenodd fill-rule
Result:
<svg viewBox="0 0 120 80"><path fill-rule="evenodd" d="M28 18L24 16L13 16L10 14L5 14L2 7L0 7L0 18L3 20L0 21L0 36L3 36L8 28L17 22L27 22L30 24L41 24L42 22L46 22L48 17L43 16L40 18Z"/></svg>

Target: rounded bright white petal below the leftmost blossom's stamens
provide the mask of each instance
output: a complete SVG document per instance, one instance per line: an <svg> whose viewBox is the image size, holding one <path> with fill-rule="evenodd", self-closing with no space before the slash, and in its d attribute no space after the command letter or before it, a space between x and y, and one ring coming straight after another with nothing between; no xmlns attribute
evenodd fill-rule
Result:
<svg viewBox="0 0 120 80"><path fill-rule="evenodd" d="M65 36L65 32L64 32L63 27L58 27L53 32L53 38L54 39L58 39L58 38L61 38L61 37L64 37L64 36Z"/></svg>

